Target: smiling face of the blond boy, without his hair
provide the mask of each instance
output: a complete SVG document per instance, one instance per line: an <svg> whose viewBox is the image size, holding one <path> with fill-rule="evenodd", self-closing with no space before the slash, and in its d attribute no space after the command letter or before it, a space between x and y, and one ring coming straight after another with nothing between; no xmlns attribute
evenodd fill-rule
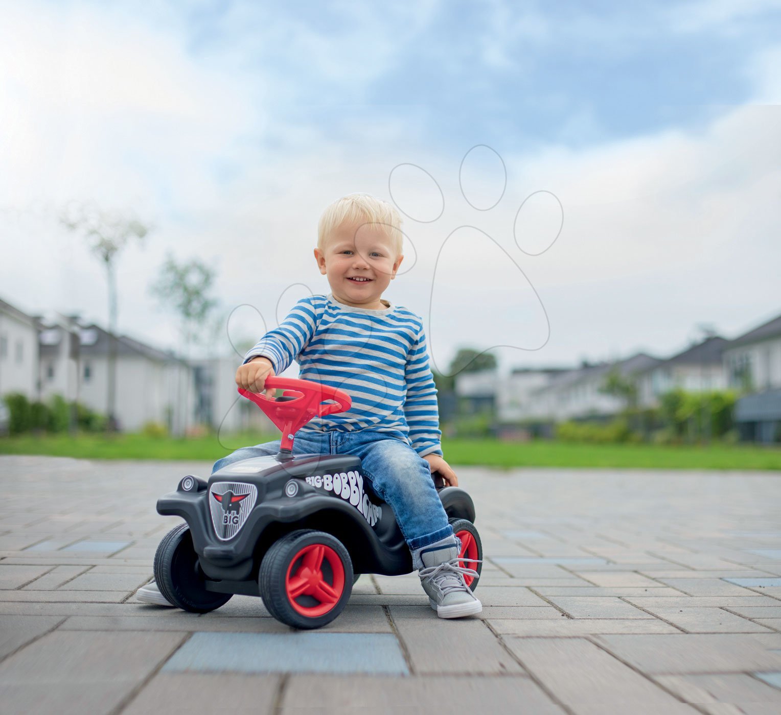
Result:
<svg viewBox="0 0 781 715"><path fill-rule="evenodd" d="M403 255L395 255L387 226L343 223L326 237L323 251L315 249L317 265L328 276L333 297L353 308L381 310L383 294L396 277ZM353 278L366 278L357 281Z"/></svg>

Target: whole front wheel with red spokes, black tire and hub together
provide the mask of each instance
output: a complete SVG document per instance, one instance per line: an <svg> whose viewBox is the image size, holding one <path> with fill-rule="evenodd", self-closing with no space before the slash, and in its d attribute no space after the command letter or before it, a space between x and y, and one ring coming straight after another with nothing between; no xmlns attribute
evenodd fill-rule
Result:
<svg viewBox="0 0 781 715"><path fill-rule="evenodd" d="M274 543L260 564L269 613L293 628L320 628L336 618L352 591L352 562L339 539L301 529Z"/></svg>

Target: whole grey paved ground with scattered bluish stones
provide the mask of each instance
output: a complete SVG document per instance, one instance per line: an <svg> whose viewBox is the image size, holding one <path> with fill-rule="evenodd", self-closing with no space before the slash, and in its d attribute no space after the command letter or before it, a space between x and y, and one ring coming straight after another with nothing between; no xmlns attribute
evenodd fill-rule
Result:
<svg viewBox="0 0 781 715"><path fill-rule="evenodd" d="M781 475L460 468L480 618L364 576L296 633L259 599L134 602L209 464L0 457L0 709L11 713L779 713Z"/></svg>

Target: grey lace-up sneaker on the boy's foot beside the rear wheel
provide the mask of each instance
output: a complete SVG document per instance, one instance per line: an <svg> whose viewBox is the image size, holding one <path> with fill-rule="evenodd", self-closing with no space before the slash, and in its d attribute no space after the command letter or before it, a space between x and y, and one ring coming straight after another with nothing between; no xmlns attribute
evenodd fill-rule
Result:
<svg viewBox="0 0 781 715"><path fill-rule="evenodd" d="M417 557L417 558L415 558ZM416 550L413 561L423 563L418 575L423 590L429 595L429 605L440 618L473 616L483 610L466 585L464 576L477 578L477 571L458 565L458 542L448 536L431 546Z"/></svg>

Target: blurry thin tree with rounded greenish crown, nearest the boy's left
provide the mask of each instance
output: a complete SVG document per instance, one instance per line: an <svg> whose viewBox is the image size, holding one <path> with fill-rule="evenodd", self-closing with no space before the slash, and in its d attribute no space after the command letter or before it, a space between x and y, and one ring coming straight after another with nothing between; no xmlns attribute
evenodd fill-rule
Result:
<svg viewBox="0 0 781 715"><path fill-rule="evenodd" d="M180 330L184 340L184 358L187 365L190 359L191 343L198 342L217 301L209 297L215 272L197 259L177 263L172 254L168 254L160 269L151 292L163 307L173 308L180 318ZM190 380L187 380L187 393L184 404L189 400ZM187 409L184 411L184 433L187 433Z"/></svg>

